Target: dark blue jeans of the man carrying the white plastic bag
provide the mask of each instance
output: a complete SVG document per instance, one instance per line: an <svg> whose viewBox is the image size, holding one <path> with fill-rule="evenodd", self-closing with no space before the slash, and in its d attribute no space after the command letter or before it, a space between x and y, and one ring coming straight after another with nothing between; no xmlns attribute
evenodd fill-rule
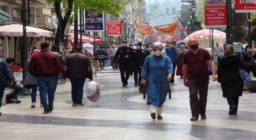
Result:
<svg viewBox="0 0 256 140"><path fill-rule="evenodd" d="M73 104L82 104L85 79L86 78L70 78Z"/></svg>

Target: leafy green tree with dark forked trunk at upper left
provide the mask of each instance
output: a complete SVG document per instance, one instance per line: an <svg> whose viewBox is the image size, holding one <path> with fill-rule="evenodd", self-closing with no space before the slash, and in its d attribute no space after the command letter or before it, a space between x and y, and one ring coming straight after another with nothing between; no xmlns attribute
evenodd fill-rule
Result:
<svg viewBox="0 0 256 140"><path fill-rule="evenodd" d="M53 8L56 12L58 7L58 0L46 0L50 8ZM67 8L63 8L62 11L65 12L65 16L61 20L61 38L64 39L64 31L68 22L72 22L76 15L78 14L79 8L84 10L95 10L94 14L107 12L108 14L113 14L118 17L118 14L122 12L122 8L127 4L123 0L61 0L64 4L67 4ZM74 15L71 13L74 12ZM57 34L60 32L57 30ZM55 44L58 45L57 38L55 38Z"/></svg>

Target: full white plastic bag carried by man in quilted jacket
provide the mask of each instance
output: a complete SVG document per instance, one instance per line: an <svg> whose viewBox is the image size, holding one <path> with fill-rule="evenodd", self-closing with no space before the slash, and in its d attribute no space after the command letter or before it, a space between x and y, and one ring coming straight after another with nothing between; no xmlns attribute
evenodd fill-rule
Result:
<svg viewBox="0 0 256 140"><path fill-rule="evenodd" d="M86 97L92 102L97 102L100 98L100 83L88 81L86 85Z"/></svg>

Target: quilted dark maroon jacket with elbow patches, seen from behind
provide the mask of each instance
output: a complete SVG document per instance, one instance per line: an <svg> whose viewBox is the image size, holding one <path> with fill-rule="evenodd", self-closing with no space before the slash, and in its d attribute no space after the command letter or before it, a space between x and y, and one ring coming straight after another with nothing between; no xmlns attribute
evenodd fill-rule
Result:
<svg viewBox="0 0 256 140"><path fill-rule="evenodd" d="M88 68L90 72L88 72ZM89 57L80 52L68 54L64 62L62 76L63 78L92 79L92 68Z"/></svg>

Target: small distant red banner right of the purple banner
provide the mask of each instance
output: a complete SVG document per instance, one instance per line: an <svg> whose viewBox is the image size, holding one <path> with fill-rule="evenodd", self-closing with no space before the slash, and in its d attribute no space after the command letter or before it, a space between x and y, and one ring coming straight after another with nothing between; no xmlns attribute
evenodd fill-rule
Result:
<svg viewBox="0 0 256 140"><path fill-rule="evenodd" d="M108 36L122 36L121 19L108 14Z"/></svg>

